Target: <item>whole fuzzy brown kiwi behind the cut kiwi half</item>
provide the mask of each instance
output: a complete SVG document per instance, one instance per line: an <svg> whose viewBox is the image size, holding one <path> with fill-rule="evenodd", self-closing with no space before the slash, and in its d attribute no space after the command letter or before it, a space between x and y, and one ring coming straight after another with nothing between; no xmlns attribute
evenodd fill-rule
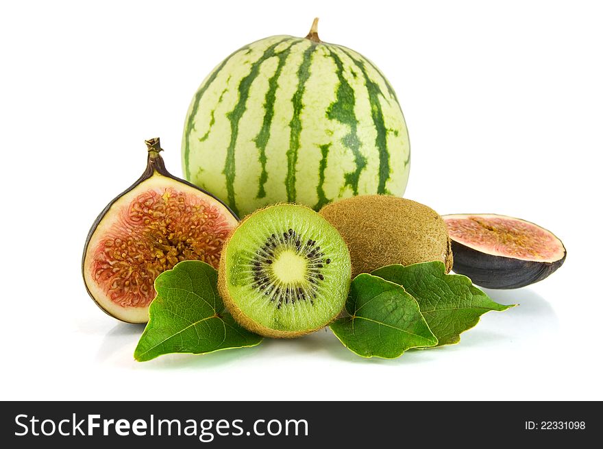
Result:
<svg viewBox="0 0 603 449"><path fill-rule="evenodd" d="M446 223L435 210L391 195L360 195L324 206L320 215L339 231L352 276L399 263L441 260L452 269Z"/></svg>

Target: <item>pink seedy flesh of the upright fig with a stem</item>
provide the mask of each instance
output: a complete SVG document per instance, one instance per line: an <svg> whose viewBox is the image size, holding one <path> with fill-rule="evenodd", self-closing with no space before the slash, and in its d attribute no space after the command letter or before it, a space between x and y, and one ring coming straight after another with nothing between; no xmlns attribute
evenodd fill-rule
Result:
<svg viewBox="0 0 603 449"><path fill-rule="evenodd" d="M182 260L219 265L232 229L204 198L171 187L149 189L119 210L118 219L93 248L92 276L112 302L146 307L155 278Z"/></svg>

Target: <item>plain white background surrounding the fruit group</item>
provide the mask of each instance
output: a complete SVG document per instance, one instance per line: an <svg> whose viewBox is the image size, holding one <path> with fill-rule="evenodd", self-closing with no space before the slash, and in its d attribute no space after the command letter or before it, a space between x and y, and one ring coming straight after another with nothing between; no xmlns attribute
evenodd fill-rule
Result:
<svg viewBox="0 0 603 449"><path fill-rule="evenodd" d="M231 51L319 34L371 58L412 147L406 197L549 228L568 250L458 345L361 359L328 331L206 356L132 358L101 312L86 233L160 136L182 175L190 99ZM602 400L603 19L586 1L30 1L0 7L0 398Z"/></svg>

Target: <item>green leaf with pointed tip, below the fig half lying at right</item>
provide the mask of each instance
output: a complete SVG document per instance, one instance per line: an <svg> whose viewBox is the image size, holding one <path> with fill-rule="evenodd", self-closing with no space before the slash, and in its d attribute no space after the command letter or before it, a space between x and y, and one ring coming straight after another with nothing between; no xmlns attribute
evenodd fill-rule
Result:
<svg viewBox="0 0 603 449"><path fill-rule="evenodd" d="M402 285L419 303L421 313L439 345L460 341L460 334L478 324L489 311L506 311L505 306L491 300L471 284L467 276L446 274L441 262L389 265L376 269L374 276Z"/></svg>

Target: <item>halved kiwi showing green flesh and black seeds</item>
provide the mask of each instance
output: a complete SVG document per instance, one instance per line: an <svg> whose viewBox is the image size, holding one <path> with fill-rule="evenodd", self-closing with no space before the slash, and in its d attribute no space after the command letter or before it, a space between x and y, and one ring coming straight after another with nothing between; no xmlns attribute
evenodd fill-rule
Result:
<svg viewBox="0 0 603 449"><path fill-rule="evenodd" d="M352 265L339 232L305 206L249 215L225 243L219 291L242 326L266 337L323 328L347 299Z"/></svg>

